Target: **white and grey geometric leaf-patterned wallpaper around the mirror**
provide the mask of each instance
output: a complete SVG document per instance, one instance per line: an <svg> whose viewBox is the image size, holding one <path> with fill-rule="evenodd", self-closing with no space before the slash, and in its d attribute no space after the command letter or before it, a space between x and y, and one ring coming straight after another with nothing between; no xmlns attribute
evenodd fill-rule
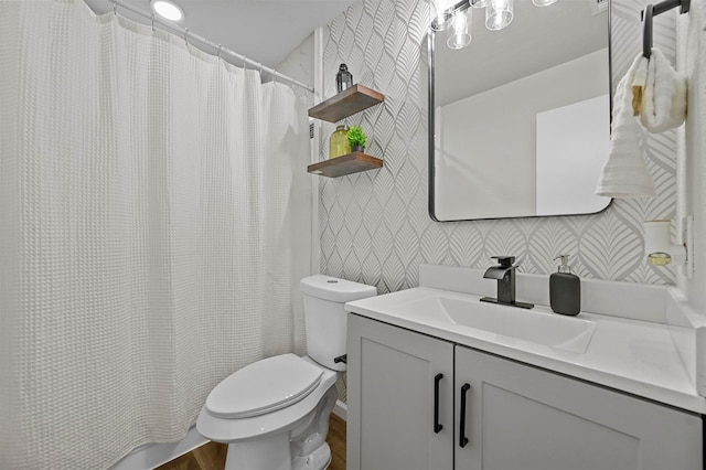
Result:
<svg viewBox="0 0 706 470"><path fill-rule="evenodd" d="M588 1L588 0L586 0ZM611 4L613 86L641 51L640 10L645 0ZM524 273L548 275L553 258L571 254L582 278L674 284L675 273L644 261L642 222L673 218L676 207L676 132L649 135L649 170L657 196L617 200L602 213L580 216L434 222L427 213L426 0L362 0L329 24L323 40L324 96L346 63L354 82L385 94L382 105L346 119L368 133L366 152L381 170L321 178L321 271L377 286L379 293L418 285L421 263L491 265L515 255ZM654 44L675 56L674 17L654 22ZM321 159L334 125L321 132Z"/></svg>

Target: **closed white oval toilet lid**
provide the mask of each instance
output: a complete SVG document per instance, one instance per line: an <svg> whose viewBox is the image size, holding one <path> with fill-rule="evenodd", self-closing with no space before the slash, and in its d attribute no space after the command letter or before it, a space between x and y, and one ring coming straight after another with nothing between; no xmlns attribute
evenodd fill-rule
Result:
<svg viewBox="0 0 706 470"><path fill-rule="evenodd" d="M221 418L249 418L303 399L323 371L295 354L264 359L231 374L211 392L206 408Z"/></svg>

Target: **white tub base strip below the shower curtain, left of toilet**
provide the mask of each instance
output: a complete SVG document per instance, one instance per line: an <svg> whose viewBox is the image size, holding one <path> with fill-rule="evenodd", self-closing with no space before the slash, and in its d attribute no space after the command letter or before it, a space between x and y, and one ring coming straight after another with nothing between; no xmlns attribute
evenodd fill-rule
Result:
<svg viewBox="0 0 706 470"><path fill-rule="evenodd" d="M196 447L208 442L201 436L195 426L192 426L186 436L178 442L149 444L137 448L135 451L118 460L110 470L149 470L174 460Z"/></svg>

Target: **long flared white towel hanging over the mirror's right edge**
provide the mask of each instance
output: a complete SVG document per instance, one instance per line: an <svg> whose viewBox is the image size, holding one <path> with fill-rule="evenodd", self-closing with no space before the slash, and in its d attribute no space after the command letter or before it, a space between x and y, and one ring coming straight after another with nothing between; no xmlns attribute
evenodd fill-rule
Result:
<svg viewBox="0 0 706 470"><path fill-rule="evenodd" d="M638 55L616 88L610 149L596 186L598 195L625 199L655 194L642 157L632 102L633 87L641 90L646 68L648 60Z"/></svg>

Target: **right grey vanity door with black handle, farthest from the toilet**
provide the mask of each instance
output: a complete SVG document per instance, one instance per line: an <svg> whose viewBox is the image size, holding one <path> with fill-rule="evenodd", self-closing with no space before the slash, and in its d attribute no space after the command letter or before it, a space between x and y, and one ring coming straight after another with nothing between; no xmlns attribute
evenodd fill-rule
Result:
<svg viewBox="0 0 706 470"><path fill-rule="evenodd" d="M459 409L464 384L457 470L702 468L699 416L457 346Z"/></svg>

